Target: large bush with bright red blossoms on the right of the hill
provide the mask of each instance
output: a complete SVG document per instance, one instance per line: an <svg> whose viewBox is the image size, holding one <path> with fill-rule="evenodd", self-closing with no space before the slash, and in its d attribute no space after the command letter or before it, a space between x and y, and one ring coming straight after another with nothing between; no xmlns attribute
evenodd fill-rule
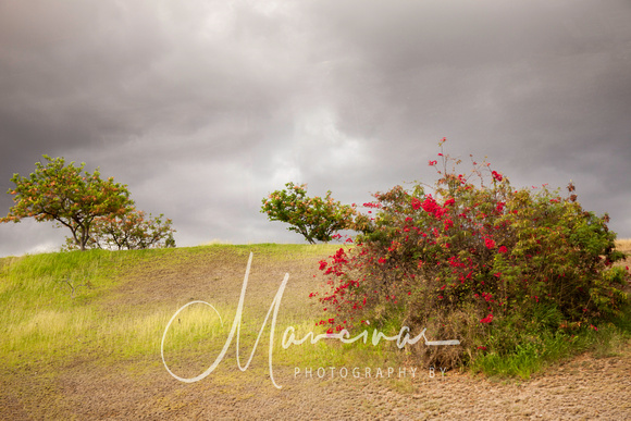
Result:
<svg viewBox="0 0 631 421"><path fill-rule="evenodd" d="M329 332L369 320L428 327L436 339L461 342L421 349L444 367L508 352L519 345L515 332L620 313L630 274L613 267L624 256L606 214L583 210L571 183L561 197L547 186L515 189L485 162L458 173L461 162L443 153L444 141L442 166L429 162L438 174L433 188L375 194L364 207L376 213L356 218L355 247L320 262L327 284L311 296L331 313L320 324Z"/></svg>

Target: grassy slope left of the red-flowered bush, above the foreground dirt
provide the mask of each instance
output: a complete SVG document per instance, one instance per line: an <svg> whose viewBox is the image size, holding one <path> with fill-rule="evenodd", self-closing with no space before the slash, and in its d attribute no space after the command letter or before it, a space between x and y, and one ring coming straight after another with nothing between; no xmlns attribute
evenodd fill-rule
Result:
<svg viewBox="0 0 631 421"><path fill-rule="evenodd" d="M271 317L263 321L285 273L289 281L275 326L274 374L286 377L302 361L318 368L383 360L382 349L369 352L361 345L347 345L342 352L341 344L324 342L288 349L281 345L289 325L299 337L309 331L322 333L316 327L320 305L308 296L322 281L318 261L338 247L213 245L0 259L0 386L13 391L3 399L20 400L38 418L47 413L41 403L63 400L55 385L76 367L119 371L124 376L158 371L164 376L169 375L165 362L180 376L198 375L221 352L230 334L250 252L239 335L242 366L252 357L246 375L270 377ZM216 312L200 304L189 306L165 333L175 312L195 300L212 305ZM235 349L236 337L213 381L235 377ZM33 379L28 373L38 375ZM67 414L58 404L47 404L46 410Z"/></svg>

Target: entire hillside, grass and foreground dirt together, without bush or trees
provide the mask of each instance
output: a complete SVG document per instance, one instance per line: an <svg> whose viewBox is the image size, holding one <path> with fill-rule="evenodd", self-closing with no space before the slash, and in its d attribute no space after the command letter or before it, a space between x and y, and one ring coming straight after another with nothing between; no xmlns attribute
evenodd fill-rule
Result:
<svg viewBox="0 0 631 421"><path fill-rule="evenodd" d="M629 348L602 358L584 355L519 382L437 370L432 376L430 368L406 364L380 347L363 354L352 354L355 344L284 349L286 326L300 334L316 330L320 308L308 295L322 281L318 261L335 248L209 246L1 259L0 419L631 418ZM174 333L166 352L178 374L203 372L232 327L250 251L240 361L249 358L289 273L272 349L282 388L270 377L269 324L247 370L238 369L233 342L207 377L175 380L161 357L166 323L190 301L218 310L223 326L208 307L189 306L206 309L191 320L208 330L190 325L182 342ZM186 310L173 332L187 325Z"/></svg>

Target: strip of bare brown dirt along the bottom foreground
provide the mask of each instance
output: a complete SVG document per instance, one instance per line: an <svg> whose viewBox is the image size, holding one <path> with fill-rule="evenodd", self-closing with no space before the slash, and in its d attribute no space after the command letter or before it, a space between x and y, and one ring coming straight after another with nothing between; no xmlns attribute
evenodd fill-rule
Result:
<svg viewBox="0 0 631 421"><path fill-rule="evenodd" d="M234 381L209 376L193 384L162 367L144 373L83 361L47 380L22 373L3 384L5 420L188 420L188 419L479 419L629 420L631 354L583 356L530 381L499 383L468 374L431 379L417 373L411 391L382 379L294 377L280 370L276 389L261 373L240 372ZM44 374L44 376L40 376ZM222 379L224 379L222 376ZM30 396L30 391L38 392Z"/></svg>

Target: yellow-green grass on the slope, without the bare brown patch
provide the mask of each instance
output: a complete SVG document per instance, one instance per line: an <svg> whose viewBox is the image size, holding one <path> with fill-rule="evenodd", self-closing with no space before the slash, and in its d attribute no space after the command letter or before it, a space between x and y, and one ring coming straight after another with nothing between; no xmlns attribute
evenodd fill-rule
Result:
<svg viewBox="0 0 631 421"><path fill-rule="evenodd" d="M222 269L230 267L235 272L224 282L231 297L213 296L220 301L213 306L221 314L223 325L208 306L193 305L178 314L164 342L164 356L170 367L182 373L196 372L208 366L209 355L218 355L224 345L236 311L245 262L253 251L249 282L253 290L262 289L265 298L258 299L253 292L246 295L239 347L245 363L282 281L276 275L258 274L259 262L282 270L287 261L306 261L304 264L307 267L312 261L317 272L318 259L337 247L212 245L157 250L72 251L0 259L0 336L4 338L0 343L0 358L9 369L63 366L77 358L103 364L121 360L138 361L139 364L147 360L161 362L161 340L166 324L186 299L193 297L183 300L164 295L144 305L126 298L136 294L134 286L154 282L151 273L172 270L172 280L177 276L178 269L199 269L202 273L201 262L211 262L208 264ZM274 364L304 366L308 361L314 367L329 367L366 364L367 361L380 363L392 358L384 351L384 346L344 345L331 339L283 348L282 336L289 325L296 329L297 337L312 330L321 333L313 322L319 314L308 306L309 292L288 288L283 298L274 335ZM222 298L225 299L222 301ZM267 358L270 323L271 320L261 335L257 358ZM232 352L235 342L231 346Z"/></svg>

